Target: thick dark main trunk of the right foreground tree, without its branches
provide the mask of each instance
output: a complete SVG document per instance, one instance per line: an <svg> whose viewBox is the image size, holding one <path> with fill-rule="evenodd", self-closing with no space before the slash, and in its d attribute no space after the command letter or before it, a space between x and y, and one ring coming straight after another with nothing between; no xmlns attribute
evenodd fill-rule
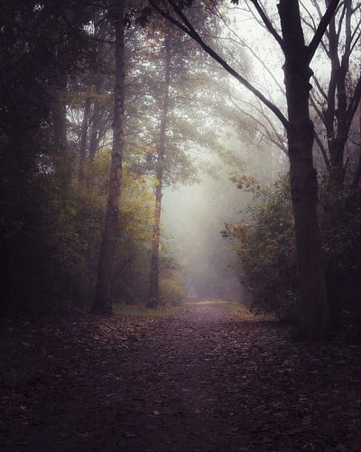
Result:
<svg viewBox="0 0 361 452"><path fill-rule="evenodd" d="M317 216L318 182L313 167L310 71L298 0L280 0L292 208L301 287L301 332L309 341L329 335L329 306Z"/></svg>

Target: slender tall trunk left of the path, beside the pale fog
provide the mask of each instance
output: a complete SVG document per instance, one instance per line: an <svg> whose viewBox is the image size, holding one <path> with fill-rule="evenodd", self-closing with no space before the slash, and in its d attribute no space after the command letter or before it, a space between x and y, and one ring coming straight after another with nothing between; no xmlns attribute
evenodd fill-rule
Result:
<svg viewBox="0 0 361 452"><path fill-rule="evenodd" d="M156 307L159 301L158 280L159 280L159 241L160 241L160 225L162 212L162 184L163 184L163 165L165 151L165 134L167 129L167 119L170 99L171 84L171 47L170 42L165 38L164 42L164 83L162 92L162 113L161 126L159 135L159 146L157 155L157 181L155 187L155 207L154 207L154 224L152 239L152 256L151 256L151 272L148 306Z"/></svg>

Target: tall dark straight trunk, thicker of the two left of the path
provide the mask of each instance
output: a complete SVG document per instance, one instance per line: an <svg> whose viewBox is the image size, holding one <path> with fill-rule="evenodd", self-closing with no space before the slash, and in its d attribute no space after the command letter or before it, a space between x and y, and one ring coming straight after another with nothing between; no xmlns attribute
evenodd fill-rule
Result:
<svg viewBox="0 0 361 452"><path fill-rule="evenodd" d="M122 157L124 147L125 44L124 0L116 4L116 84L113 122L113 148L103 232L97 268L96 297L92 310L97 314L112 314L111 277L119 216Z"/></svg>

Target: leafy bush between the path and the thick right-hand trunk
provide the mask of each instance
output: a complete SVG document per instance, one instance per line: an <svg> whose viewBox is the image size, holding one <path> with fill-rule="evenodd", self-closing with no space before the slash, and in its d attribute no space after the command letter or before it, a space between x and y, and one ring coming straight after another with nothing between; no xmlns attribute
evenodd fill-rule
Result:
<svg viewBox="0 0 361 452"><path fill-rule="evenodd" d="M293 318L299 296L288 184L282 180L273 190L261 189L250 178L242 179L244 184L255 194L255 202L246 209L248 220L227 224L223 234L238 253L241 280L255 311Z"/></svg>

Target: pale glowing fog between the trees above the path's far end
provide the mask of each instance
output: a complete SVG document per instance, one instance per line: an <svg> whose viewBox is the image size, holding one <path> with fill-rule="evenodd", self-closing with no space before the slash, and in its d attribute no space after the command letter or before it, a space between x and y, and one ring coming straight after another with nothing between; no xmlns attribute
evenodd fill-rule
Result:
<svg viewBox="0 0 361 452"><path fill-rule="evenodd" d="M254 195L237 188L231 177L248 174L271 186L286 170L279 149L229 134L223 155L196 156L198 182L168 187L162 200L162 236L179 260L187 297L247 302L243 272L226 223L247 219Z"/></svg>

